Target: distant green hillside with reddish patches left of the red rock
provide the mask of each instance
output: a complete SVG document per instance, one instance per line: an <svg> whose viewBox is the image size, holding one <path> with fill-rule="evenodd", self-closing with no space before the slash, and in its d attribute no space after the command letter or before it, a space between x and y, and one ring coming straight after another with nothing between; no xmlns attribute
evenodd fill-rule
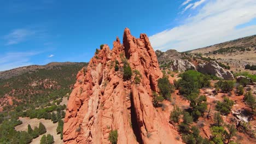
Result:
<svg viewBox="0 0 256 144"><path fill-rule="evenodd" d="M86 69L87 65L88 63L82 62L54 62L2 71L0 111L11 109L10 105L43 105L50 100L63 97L71 92L76 73L82 68Z"/></svg>

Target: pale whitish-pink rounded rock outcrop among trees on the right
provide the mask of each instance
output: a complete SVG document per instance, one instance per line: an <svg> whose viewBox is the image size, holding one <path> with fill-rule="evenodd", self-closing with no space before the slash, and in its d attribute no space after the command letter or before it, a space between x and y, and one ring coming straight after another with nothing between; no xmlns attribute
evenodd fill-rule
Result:
<svg viewBox="0 0 256 144"><path fill-rule="evenodd" d="M215 61L197 65L197 71L203 74L216 75L224 80L234 80L234 75L230 71L225 71Z"/></svg>

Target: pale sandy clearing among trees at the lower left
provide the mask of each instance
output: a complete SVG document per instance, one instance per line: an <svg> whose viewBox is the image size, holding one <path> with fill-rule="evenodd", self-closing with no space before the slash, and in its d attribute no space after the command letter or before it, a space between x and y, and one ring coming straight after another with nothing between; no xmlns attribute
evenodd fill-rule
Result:
<svg viewBox="0 0 256 144"><path fill-rule="evenodd" d="M63 143L63 141L60 139L60 134L57 135L56 129L58 126L58 123L53 123L51 120L45 120L45 119L37 119L37 118L28 118L28 117L20 117L20 121L22 121L21 125L18 125L15 127L16 130L18 131L27 131L27 125L30 124L31 128L34 129L34 127L39 127L39 123L42 122L46 128L46 135L51 134L54 136L54 143L59 144ZM33 139L31 144L38 144L40 143L41 137L44 134L38 136L36 139Z"/></svg>

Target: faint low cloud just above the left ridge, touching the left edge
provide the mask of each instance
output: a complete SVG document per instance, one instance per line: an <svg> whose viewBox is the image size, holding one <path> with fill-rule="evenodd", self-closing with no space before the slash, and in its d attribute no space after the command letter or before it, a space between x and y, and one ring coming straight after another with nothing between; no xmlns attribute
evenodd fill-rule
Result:
<svg viewBox="0 0 256 144"><path fill-rule="evenodd" d="M31 65L30 58L40 52L8 52L0 55L0 71Z"/></svg>

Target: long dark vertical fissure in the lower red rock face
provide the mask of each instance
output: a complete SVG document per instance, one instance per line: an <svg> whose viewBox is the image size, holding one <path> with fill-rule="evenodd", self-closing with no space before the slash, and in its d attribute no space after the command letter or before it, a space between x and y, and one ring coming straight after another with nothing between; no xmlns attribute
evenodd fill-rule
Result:
<svg viewBox="0 0 256 144"><path fill-rule="evenodd" d="M138 143L143 143L141 139L141 130L137 121L136 109L133 101L133 94L131 93L131 123L133 134L136 136Z"/></svg>

